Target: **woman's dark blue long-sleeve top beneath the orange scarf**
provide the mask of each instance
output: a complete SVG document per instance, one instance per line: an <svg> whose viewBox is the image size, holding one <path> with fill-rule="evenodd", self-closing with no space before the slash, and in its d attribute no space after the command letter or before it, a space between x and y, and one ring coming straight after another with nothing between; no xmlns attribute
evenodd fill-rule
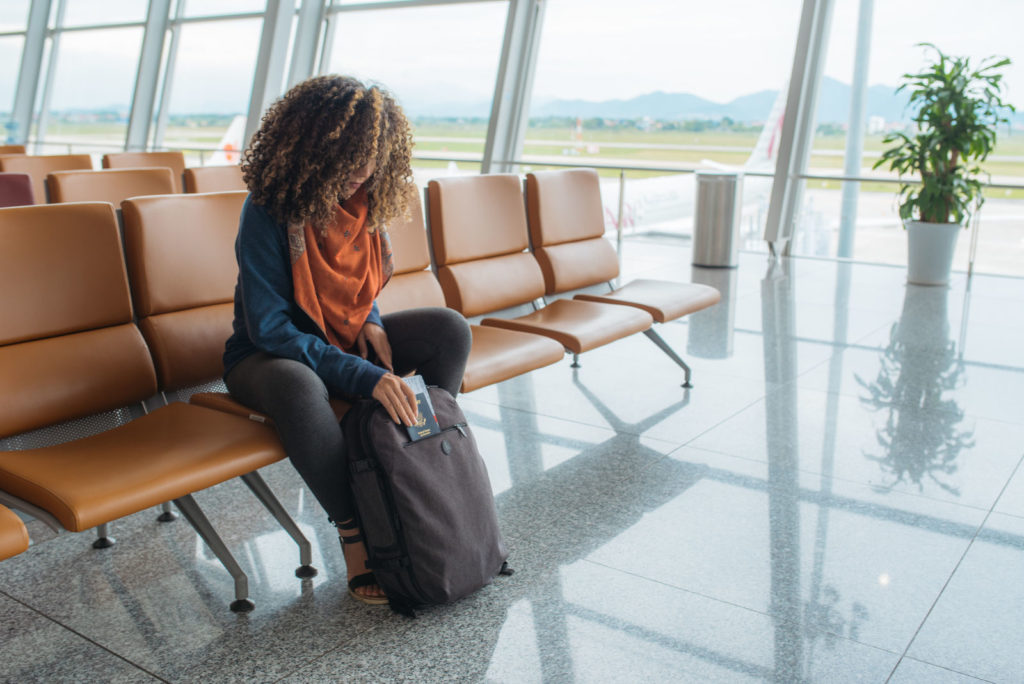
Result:
<svg viewBox="0 0 1024 684"><path fill-rule="evenodd" d="M264 351L305 364L332 395L370 396L387 371L332 345L296 305L286 226L251 197L242 206L234 255L239 282L233 332L224 347L224 375L249 354ZM377 302L367 323L382 325Z"/></svg>

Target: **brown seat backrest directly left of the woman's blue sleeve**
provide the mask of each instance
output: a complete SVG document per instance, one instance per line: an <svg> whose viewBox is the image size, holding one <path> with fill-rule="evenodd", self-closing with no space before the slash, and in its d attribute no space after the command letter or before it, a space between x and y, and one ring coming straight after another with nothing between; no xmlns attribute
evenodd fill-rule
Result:
<svg viewBox="0 0 1024 684"><path fill-rule="evenodd" d="M165 195L122 205L132 298L162 390L223 373L238 280L234 239L246 195Z"/></svg>

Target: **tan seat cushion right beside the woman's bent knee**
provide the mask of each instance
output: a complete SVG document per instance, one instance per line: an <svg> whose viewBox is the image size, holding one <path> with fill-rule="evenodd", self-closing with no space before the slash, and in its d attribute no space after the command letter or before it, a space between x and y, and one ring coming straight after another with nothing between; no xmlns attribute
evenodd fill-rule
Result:
<svg viewBox="0 0 1024 684"><path fill-rule="evenodd" d="M464 392L557 364L565 355L562 345L549 337L487 326L473 326L472 332Z"/></svg>

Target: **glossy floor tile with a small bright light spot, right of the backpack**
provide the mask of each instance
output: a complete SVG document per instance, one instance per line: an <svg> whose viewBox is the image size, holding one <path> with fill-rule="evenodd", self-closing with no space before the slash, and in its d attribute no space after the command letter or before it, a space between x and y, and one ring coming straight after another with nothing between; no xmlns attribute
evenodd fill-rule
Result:
<svg viewBox="0 0 1024 684"><path fill-rule="evenodd" d="M853 486L815 491L785 472L766 480L713 455L674 456L638 479L527 544L894 652L910 642L981 519L922 498L888 513L869 487L859 486L861 502Z"/></svg>

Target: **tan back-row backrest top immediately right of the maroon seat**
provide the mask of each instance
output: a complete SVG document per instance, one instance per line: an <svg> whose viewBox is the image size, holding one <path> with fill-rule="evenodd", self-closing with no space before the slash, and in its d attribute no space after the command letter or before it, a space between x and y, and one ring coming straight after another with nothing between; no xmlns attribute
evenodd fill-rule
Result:
<svg viewBox="0 0 1024 684"><path fill-rule="evenodd" d="M174 180L166 167L54 171L46 176L50 202L110 202L116 208L140 195L171 195Z"/></svg>

